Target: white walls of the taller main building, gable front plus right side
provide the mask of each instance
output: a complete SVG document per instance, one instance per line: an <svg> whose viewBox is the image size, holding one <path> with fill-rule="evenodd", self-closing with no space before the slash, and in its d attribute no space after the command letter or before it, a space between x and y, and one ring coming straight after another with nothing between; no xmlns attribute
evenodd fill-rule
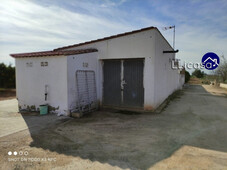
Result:
<svg viewBox="0 0 227 170"><path fill-rule="evenodd" d="M145 58L145 110L154 110L184 84L184 76L180 75L178 70L171 68L170 61L175 58L174 54L163 54L164 50L173 50L172 47L155 29L66 50L81 48L97 48L100 60ZM103 81L102 77L100 80ZM102 90L100 90L100 96L102 96Z"/></svg>

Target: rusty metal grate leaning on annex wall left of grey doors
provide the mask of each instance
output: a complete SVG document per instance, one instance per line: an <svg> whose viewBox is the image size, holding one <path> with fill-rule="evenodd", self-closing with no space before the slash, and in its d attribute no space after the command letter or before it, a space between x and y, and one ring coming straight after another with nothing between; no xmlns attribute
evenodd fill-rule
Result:
<svg viewBox="0 0 227 170"><path fill-rule="evenodd" d="M91 112L97 107L97 93L95 72L90 70L77 70L77 97L80 112Z"/></svg>

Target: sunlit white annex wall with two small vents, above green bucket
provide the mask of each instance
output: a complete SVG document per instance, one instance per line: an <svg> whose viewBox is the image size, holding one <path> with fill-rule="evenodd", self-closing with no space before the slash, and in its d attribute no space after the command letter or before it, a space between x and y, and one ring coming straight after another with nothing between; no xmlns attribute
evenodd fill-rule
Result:
<svg viewBox="0 0 227 170"><path fill-rule="evenodd" d="M48 62L42 67L41 62ZM32 63L28 67L26 63ZM45 101L45 85L48 96ZM16 59L16 89L19 106L22 109L49 104L58 108L56 113L66 113L67 98L67 57L32 57Z"/></svg>

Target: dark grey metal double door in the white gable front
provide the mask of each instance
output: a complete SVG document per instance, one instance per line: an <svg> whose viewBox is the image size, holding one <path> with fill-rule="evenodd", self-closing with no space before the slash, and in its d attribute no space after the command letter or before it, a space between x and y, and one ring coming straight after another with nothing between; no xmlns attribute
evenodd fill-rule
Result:
<svg viewBox="0 0 227 170"><path fill-rule="evenodd" d="M103 104L142 108L144 59L105 60Z"/></svg>

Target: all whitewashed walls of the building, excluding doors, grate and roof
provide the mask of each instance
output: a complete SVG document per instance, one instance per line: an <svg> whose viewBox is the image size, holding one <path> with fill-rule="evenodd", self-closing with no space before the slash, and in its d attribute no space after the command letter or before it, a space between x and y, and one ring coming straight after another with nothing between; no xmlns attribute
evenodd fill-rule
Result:
<svg viewBox="0 0 227 170"><path fill-rule="evenodd" d="M17 97L21 108L39 107L49 104L59 114L68 114L77 104L76 71L92 70L96 76L97 99L102 104L103 72L102 60L144 58L144 109L154 110L171 93L180 89L184 76L172 70L170 59L174 54L163 54L172 50L155 29L100 41L72 49L96 48L98 52L71 56L33 57L16 59ZM26 63L32 62L32 67ZM40 62L48 62L41 67ZM83 63L88 63L84 67ZM45 85L48 98L45 101Z"/></svg>

